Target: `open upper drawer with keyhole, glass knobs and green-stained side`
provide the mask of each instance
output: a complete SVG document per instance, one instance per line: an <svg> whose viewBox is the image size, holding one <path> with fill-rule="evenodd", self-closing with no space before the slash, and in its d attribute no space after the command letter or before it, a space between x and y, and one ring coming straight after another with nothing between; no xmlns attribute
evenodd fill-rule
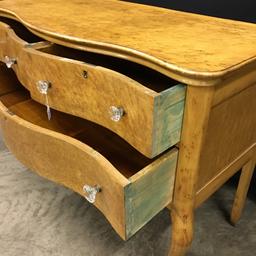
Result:
<svg viewBox="0 0 256 256"><path fill-rule="evenodd" d="M17 22L2 21L21 30ZM37 102L46 103L40 90L46 86L51 108L112 130L149 158L179 142L184 85L128 60L35 43L40 39L30 32L16 35L4 23L0 30L7 30L0 58L7 56Z"/></svg>

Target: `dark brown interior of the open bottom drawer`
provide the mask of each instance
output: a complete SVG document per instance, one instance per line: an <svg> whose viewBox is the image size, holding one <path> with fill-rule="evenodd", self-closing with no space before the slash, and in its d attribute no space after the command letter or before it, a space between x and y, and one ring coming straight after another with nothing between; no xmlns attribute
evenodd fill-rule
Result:
<svg viewBox="0 0 256 256"><path fill-rule="evenodd" d="M0 100L8 106L11 115L18 115L34 125L74 137L89 145L127 178L154 162L114 133L94 123L58 111L52 111L52 119L49 121L45 107L28 98L27 94L20 90L0 96Z"/></svg>

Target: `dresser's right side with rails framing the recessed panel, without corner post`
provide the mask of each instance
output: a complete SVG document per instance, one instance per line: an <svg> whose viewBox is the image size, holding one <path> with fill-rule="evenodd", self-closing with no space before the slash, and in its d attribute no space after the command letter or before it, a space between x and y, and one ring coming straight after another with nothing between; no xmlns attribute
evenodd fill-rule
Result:
<svg viewBox="0 0 256 256"><path fill-rule="evenodd" d="M196 206L218 190L247 162L255 161L255 69L241 70L215 87L206 140L201 154ZM247 168L245 168L247 170ZM248 172L245 171L246 174ZM242 175L241 198L248 175ZM246 180L246 182L243 182ZM237 198L240 197L237 195ZM243 203L241 203L242 205Z"/></svg>

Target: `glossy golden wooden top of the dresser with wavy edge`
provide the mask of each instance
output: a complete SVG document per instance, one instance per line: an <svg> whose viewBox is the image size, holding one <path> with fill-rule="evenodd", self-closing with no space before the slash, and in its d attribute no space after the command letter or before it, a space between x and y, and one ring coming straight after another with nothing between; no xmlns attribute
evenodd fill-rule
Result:
<svg viewBox="0 0 256 256"><path fill-rule="evenodd" d="M117 0L2 0L0 15L49 41L130 59L184 81L256 66L256 25L245 22Z"/></svg>

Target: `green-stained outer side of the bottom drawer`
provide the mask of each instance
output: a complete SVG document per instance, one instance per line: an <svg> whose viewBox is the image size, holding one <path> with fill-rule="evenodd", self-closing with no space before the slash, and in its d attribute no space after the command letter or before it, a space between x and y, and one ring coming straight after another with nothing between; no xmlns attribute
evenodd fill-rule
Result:
<svg viewBox="0 0 256 256"><path fill-rule="evenodd" d="M125 187L127 237L172 201L177 157L178 150L173 149L129 179Z"/></svg>

